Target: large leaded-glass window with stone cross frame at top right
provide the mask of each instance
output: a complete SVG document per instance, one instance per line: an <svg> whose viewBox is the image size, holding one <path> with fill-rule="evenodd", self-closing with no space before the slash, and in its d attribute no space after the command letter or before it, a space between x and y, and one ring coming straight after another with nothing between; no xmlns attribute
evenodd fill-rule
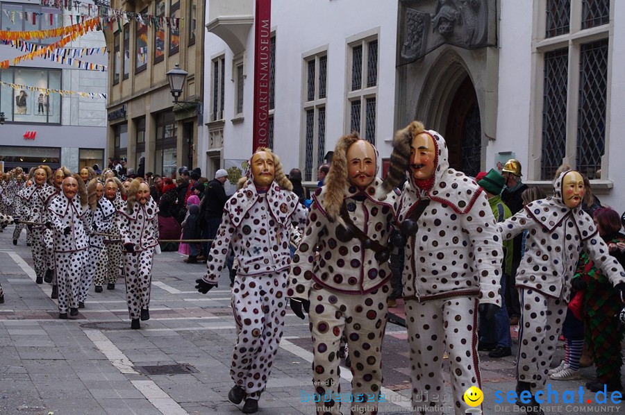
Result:
<svg viewBox="0 0 625 415"><path fill-rule="evenodd" d="M536 78L542 79L542 114L540 171L535 175L553 180L566 163L599 179L609 139L610 1L582 0L581 7L572 7L570 0L537 4L544 7L545 27L537 30L544 38L533 42L542 55L536 68Z"/></svg>

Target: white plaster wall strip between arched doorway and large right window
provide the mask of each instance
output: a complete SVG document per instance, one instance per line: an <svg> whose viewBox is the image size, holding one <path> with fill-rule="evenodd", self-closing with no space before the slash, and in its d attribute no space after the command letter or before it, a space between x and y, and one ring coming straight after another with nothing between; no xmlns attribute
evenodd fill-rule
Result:
<svg viewBox="0 0 625 415"><path fill-rule="evenodd" d="M527 0L500 1L499 8L497 135L494 140L490 140L486 149L486 169L495 167L497 153L512 151L521 162L526 178L530 137L533 10L531 1Z"/></svg>

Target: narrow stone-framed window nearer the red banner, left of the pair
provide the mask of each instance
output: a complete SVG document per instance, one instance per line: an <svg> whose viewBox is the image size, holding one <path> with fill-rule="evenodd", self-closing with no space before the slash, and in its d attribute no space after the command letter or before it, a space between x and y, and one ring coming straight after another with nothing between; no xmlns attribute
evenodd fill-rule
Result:
<svg viewBox="0 0 625 415"><path fill-rule="evenodd" d="M328 51L321 50L303 60L303 180L317 178L315 173L324 164L326 155Z"/></svg>

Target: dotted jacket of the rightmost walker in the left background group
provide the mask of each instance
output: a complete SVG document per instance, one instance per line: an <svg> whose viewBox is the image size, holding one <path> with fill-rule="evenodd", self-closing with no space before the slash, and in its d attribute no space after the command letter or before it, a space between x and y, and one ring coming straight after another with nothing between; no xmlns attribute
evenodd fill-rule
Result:
<svg viewBox="0 0 625 415"><path fill-rule="evenodd" d="M122 244L135 244L135 252L158 245L158 206L153 198L145 205L135 202L130 214L125 207L118 210L115 222Z"/></svg>

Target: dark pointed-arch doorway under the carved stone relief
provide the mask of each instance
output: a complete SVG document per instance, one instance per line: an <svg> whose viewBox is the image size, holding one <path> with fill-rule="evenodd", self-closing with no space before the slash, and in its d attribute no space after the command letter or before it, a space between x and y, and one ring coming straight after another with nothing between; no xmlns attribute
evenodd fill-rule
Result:
<svg viewBox="0 0 625 415"><path fill-rule="evenodd" d="M481 167L482 128L480 108L467 75L453 95L445 128L449 167L476 176Z"/></svg>

